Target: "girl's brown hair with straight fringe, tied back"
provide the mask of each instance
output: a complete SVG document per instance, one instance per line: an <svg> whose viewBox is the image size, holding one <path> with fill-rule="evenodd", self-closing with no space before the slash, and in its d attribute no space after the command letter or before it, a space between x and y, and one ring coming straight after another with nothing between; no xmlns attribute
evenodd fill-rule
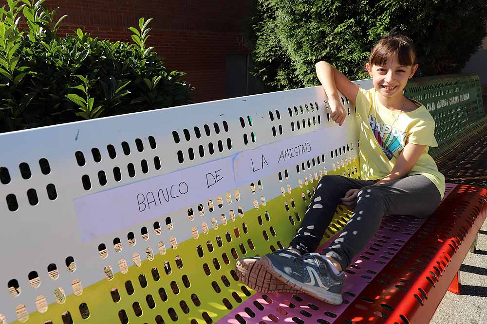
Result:
<svg viewBox="0 0 487 324"><path fill-rule="evenodd" d="M402 66L416 64L416 50L412 39L398 28L394 28L389 35L379 40L370 53L369 64L384 66L393 56L397 56Z"/></svg>

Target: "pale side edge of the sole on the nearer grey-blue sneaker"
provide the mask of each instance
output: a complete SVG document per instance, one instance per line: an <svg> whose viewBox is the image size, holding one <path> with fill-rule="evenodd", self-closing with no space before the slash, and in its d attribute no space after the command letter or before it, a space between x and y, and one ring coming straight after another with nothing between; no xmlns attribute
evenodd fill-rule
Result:
<svg viewBox="0 0 487 324"><path fill-rule="evenodd" d="M269 260L266 256L261 256L261 260L259 263L262 264L263 267L267 268L268 272L271 273L274 277L281 280L282 283L293 287L296 290L304 292L307 295L310 295L328 304L340 305L341 303L343 303L343 297L341 296L341 294L329 292L321 287L309 286L294 278L289 277L286 273L282 273L279 269L275 268L271 260Z"/></svg>

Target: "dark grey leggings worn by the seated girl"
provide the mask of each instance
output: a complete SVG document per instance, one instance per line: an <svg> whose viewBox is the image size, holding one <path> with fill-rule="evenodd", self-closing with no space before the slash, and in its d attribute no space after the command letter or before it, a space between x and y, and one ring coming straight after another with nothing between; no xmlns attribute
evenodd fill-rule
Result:
<svg viewBox="0 0 487 324"><path fill-rule="evenodd" d="M301 254L314 252L333 219L340 198L350 189L361 189L354 214L339 237L323 253L337 260L343 269L372 239L384 215L426 218L441 202L436 186L421 174L373 186L377 181L341 175L323 176L290 246Z"/></svg>

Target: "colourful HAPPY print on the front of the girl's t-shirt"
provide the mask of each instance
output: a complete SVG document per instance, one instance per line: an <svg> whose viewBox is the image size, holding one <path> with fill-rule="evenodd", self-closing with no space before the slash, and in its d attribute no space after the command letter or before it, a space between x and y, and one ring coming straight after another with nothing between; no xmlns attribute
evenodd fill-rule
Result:
<svg viewBox="0 0 487 324"><path fill-rule="evenodd" d="M377 139L377 142L382 147L382 151L391 160L393 153L404 147L406 133L401 132L391 125L378 122L372 115L369 115L369 124L372 132L374 132L375 139Z"/></svg>

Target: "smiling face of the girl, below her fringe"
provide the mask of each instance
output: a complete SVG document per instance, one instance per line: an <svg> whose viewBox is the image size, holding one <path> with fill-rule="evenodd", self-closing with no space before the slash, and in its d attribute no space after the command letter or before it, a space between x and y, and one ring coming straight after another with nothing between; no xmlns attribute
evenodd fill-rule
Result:
<svg viewBox="0 0 487 324"><path fill-rule="evenodd" d="M412 78L418 65L401 66L396 56L391 57L386 65L370 65L367 63L367 70L372 77L374 87L384 97L402 95L408 80Z"/></svg>

